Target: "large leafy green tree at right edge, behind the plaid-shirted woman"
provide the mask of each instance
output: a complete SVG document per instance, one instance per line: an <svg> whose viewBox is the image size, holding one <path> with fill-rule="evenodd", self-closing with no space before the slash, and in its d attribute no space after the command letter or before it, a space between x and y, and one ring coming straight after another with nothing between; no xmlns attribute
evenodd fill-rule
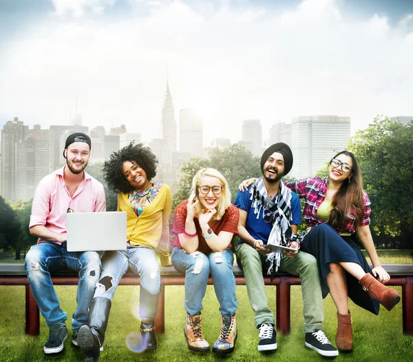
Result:
<svg viewBox="0 0 413 362"><path fill-rule="evenodd" d="M372 201L374 232L399 237L402 248L413 248L413 122L376 117L352 137L349 150Z"/></svg>

